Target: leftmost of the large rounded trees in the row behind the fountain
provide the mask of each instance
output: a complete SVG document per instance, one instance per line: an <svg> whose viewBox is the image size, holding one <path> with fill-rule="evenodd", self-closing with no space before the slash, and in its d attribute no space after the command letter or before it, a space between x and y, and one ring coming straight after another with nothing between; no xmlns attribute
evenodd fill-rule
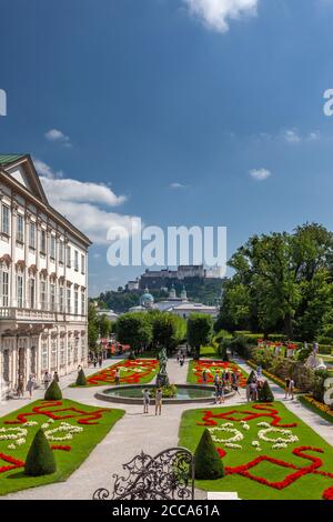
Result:
<svg viewBox="0 0 333 522"><path fill-rule="evenodd" d="M147 312L124 313L117 320L118 341L130 344L133 350L152 341L152 324Z"/></svg>

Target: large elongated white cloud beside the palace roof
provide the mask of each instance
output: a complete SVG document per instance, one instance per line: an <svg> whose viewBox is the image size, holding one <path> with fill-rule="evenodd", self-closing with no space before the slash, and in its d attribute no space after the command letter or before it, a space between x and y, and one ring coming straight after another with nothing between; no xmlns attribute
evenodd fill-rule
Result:
<svg viewBox="0 0 333 522"><path fill-rule="evenodd" d="M111 227L122 227L132 232L134 217L110 210L122 204L125 197L117 195L102 183L59 178L43 161L34 159L33 162L50 204L93 243L108 244L107 234Z"/></svg>

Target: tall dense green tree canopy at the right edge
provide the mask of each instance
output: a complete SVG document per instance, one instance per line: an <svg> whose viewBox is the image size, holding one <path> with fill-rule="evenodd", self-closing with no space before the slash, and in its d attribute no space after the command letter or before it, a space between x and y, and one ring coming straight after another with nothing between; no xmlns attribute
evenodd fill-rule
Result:
<svg viewBox="0 0 333 522"><path fill-rule="evenodd" d="M333 327L333 235L317 223L253 235L229 261L218 324L315 339Z"/></svg>

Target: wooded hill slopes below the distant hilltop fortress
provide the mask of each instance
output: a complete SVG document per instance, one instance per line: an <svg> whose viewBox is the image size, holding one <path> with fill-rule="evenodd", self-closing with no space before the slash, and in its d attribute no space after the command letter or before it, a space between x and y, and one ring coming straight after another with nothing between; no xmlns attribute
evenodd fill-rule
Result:
<svg viewBox="0 0 333 522"><path fill-rule="evenodd" d="M185 278L184 281L171 280L170 287L174 284L176 295L180 295L183 284L188 292L190 301L201 302L203 304L215 304L216 299L221 295L222 280L221 279L202 279L202 278ZM100 294L99 301L105 308L114 310L114 312L125 312L131 307L137 307L140 303L140 295L143 291L128 291L121 289L120 291L107 291ZM168 298L168 292L162 290L150 290L155 301L162 301Z"/></svg>

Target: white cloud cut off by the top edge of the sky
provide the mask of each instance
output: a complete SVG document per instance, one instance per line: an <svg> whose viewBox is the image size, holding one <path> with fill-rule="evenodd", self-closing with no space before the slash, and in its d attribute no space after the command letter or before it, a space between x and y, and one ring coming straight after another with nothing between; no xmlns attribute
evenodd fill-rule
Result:
<svg viewBox="0 0 333 522"><path fill-rule="evenodd" d="M183 0L189 11L209 29L218 32L229 30L230 20L255 16L259 0Z"/></svg>

